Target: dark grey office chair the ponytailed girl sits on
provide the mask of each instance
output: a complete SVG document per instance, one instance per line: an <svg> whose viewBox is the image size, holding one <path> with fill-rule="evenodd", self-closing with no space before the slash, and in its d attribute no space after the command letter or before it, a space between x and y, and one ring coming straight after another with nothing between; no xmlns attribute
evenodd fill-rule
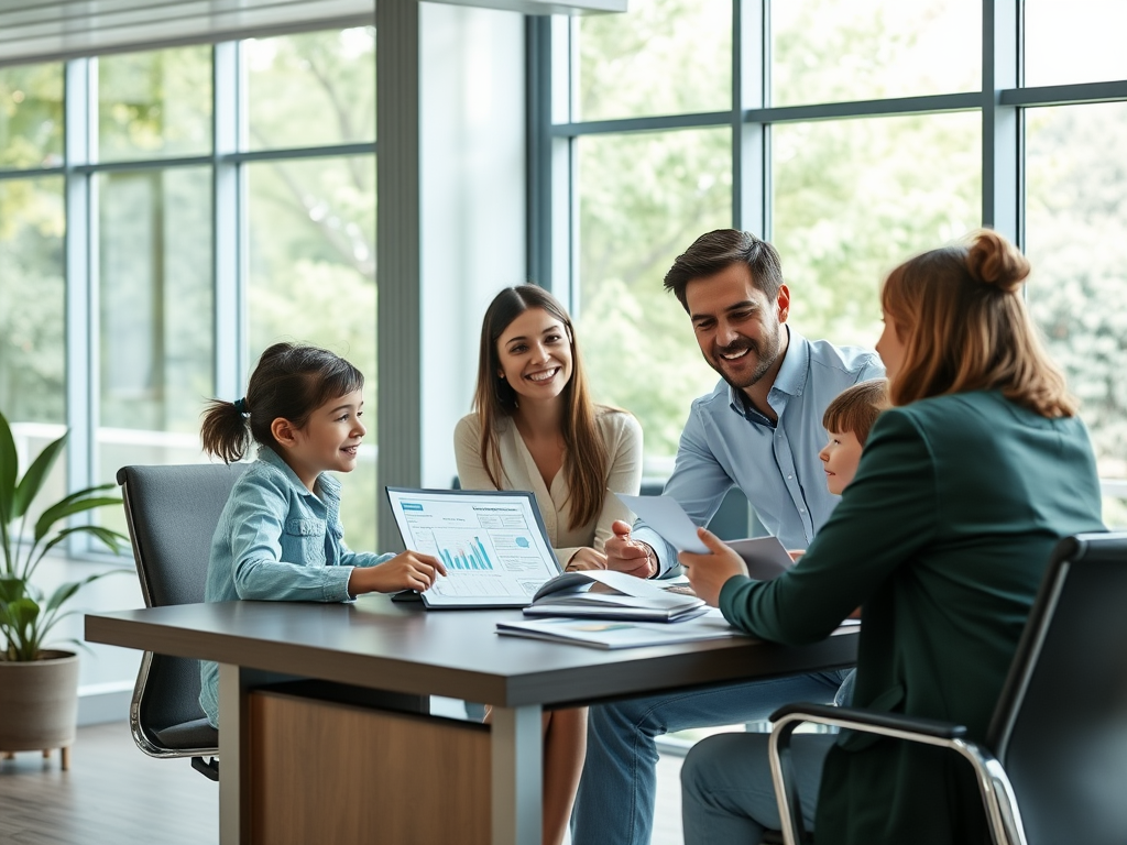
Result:
<svg viewBox="0 0 1127 845"><path fill-rule="evenodd" d="M245 464L190 464L117 471L147 607L204 601L212 535L245 470ZM147 651L130 703L130 729L149 756L192 757L193 768L219 780L219 731L199 708L198 660Z"/></svg>

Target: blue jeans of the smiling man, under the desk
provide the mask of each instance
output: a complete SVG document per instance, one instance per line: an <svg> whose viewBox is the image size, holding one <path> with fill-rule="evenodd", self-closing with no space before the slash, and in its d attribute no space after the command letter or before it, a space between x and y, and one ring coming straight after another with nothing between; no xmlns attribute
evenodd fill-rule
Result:
<svg viewBox="0 0 1127 845"><path fill-rule="evenodd" d="M657 791L655 737L766 719L795 701L829 703L848 670L755 681L591 708L575 845L648 845Z"/></svg>

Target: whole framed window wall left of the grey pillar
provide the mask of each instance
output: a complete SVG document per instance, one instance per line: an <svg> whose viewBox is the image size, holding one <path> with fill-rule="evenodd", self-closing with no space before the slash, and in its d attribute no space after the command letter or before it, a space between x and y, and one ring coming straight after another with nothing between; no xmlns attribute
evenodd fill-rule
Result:
<svg viewBox="0 0 1127 845"><path fill-rule="evenodd" d="M60 495L205 460L205 401L301 340L369 376L345 516L375 546L374 42L361 27L0 69L0 411L26 454L70 427Z"/></svg>

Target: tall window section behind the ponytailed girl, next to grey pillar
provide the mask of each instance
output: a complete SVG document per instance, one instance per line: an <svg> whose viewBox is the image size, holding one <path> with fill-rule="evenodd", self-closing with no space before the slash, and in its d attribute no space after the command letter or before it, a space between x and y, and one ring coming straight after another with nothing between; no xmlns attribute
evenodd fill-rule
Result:
<svg viewBox="0 0 1127 845"><path fill-rule="evenodd" d="M375 158L341 150L375 142L374 35L243 45L249 146L269 157L245 171L250 365L290 340L331 349L364 373L369 434L341 514L355 549L378 548Z"/></svg>

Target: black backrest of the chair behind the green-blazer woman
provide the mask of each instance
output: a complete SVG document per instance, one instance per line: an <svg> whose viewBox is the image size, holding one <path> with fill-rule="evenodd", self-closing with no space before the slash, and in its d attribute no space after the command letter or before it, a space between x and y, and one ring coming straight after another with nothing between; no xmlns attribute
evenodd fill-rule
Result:
<svg viewBox="0 0 1127 845"><path fill-rule="evenodd" d="M1057 545L987 745L1029 845L1127 843L1127 533Z"/></svg>

